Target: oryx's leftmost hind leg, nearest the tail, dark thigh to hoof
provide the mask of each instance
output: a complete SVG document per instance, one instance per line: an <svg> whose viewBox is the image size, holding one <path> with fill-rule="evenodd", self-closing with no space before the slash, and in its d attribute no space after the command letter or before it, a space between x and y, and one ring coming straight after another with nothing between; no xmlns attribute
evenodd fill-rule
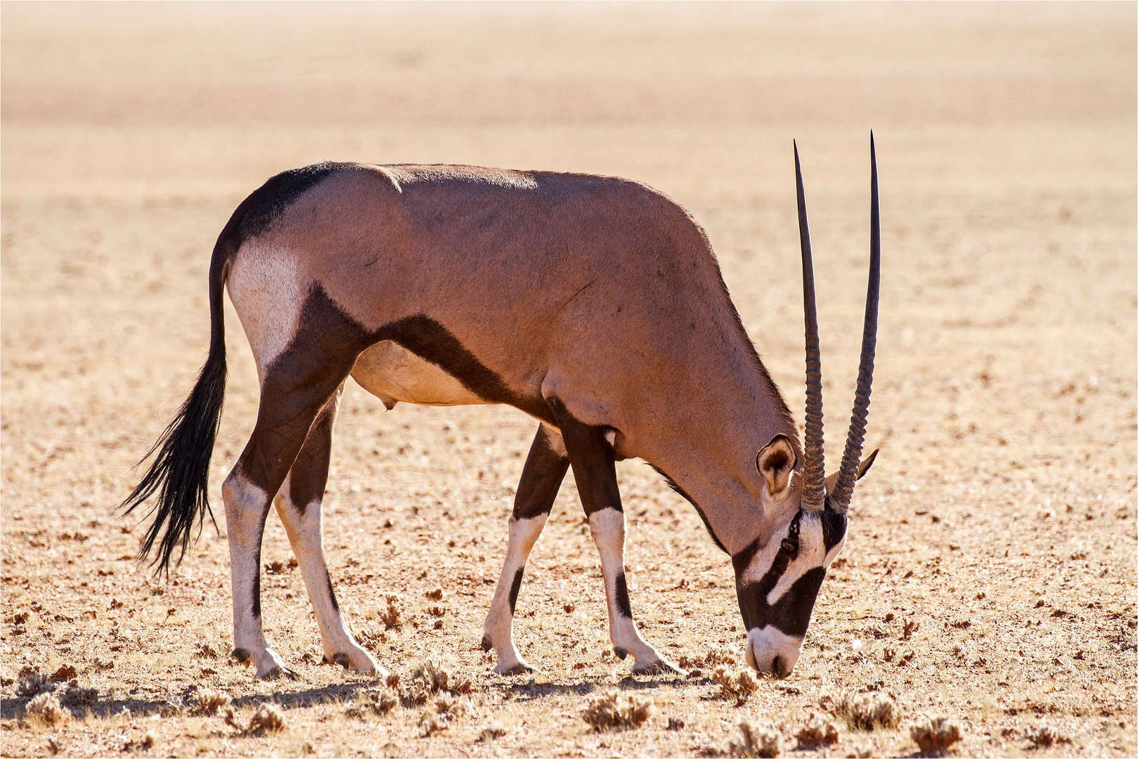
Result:
<svg viewBox="0 0 1138 759"><path fill-rule="evenodd" d="M233 592L233 655L255 665L257 677L290 674L269 647L261 624L265 517L313 421L347 379L356 355L358 350L345 349L335 338L300 335L274 357L262 372L257 424L222 486Z"/></svg>

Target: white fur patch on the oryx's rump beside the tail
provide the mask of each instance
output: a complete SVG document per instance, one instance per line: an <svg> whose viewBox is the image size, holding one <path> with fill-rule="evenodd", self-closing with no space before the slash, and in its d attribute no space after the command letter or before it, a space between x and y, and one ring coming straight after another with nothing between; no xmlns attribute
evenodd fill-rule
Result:
<svg viewBox="0 0 1138 759"><path fill-rule="evenodd" d="M257 376L296 335L307 282L288 250L248 240L233 259L226 282L230 300L249 339Z"/></svg>

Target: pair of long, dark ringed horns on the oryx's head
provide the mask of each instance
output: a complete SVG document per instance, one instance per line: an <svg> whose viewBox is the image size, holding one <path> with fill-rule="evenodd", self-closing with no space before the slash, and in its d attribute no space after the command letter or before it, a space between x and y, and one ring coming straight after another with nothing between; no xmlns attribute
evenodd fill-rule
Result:
<svg viewBox="0 0 1138 759"><path fill-rule="evenodd" d="M814 295L814 259L810 251L810 228L806 221L802 166L798 159L798 143L794 143L798 228L802 245L802 307L806 315L806 463L802 471L802 510L807 512L822 511L827 504L843 514L849 511L861 446L865 443L865 426L869 418L873 358L877 347L877 304L881 296L881 209L877 199L877 155L873 145L873 132L869 132L869 284L865 297L861 361L846 451L842 454L834 489L827 494L822 426L822 354L818 345L818 310Z"/></svg>

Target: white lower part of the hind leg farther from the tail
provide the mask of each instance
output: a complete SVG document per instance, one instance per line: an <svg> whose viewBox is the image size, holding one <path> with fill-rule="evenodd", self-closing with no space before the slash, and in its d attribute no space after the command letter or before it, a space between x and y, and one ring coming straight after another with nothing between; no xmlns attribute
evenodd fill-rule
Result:
<svg viewBox="0 0 1138 759"><path fill-rule="evenodd" d="M324 562L322 500L313 498L304 513L300 513L288 495L290 478L291 476L287 477L281 485L274 505L284 523L292 553L300 566L304 586L308 589L308 600L316 613L324 659L354 673L377 673L380 677L387 677L387 670L376 662L366 649L356 643L335 600L332 580ZM344 657L347 657L346 661Z"/></svg>

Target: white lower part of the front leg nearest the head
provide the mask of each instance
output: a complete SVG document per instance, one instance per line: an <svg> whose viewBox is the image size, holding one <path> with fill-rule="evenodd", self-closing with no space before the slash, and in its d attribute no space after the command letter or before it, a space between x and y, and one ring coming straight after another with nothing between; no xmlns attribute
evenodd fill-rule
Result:
<svg viewBox="0 0 1138 759"><path fill-rule="evenodd" d="M597 553L601 554L601 574L604 576L604 595L609 602L609 636L612 650L620 658L633 654L633 671L670 669L681 671L659 651L641 637L632 616L625 616L618 602L627 596L625 580L625 514L616 509L594 511L588 518ZM618 583L624 587L618 589ZM629 610L630 611L630 610Z"/></svg>

